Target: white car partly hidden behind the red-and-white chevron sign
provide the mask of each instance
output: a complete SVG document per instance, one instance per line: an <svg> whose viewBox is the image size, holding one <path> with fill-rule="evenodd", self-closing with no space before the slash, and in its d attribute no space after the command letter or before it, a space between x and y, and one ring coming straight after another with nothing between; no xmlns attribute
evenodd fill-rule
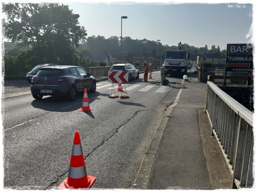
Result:
<svg viewBox="0 0 256 192"><path fill-rule="evenodd" d="M138 68L135 68L131 63L114 64L109 71L128 71L128 81L131 81L132 78L139 79L140 76Z"/></svg>

